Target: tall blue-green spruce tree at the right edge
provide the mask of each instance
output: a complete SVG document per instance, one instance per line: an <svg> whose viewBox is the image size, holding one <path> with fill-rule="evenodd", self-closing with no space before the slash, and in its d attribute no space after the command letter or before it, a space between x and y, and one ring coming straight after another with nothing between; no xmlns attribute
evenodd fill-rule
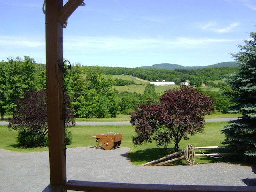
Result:
<svg viewBox="0 0 256 192"><path fill-rule="evenodd" d="M230 112L242 117L224 127L228 144L236 152L256 156L256 32L250 33L250 40L238 45L240 51L232 53L240 69L227 80L231 91L227 92L234 104Z"/></svg>

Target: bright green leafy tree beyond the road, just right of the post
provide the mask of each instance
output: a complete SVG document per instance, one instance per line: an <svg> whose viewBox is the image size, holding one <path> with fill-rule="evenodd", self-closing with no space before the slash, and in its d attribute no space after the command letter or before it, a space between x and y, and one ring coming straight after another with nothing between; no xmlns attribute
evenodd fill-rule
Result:
<svg viewBox="0 0 256 192"><path fill-rule="evenodd" d="M79 118L110 118L120 112L120 98L112 90L114 80L111 76L103 76L94 66L86 71L86 82L83 92L72 101L74 115Z"/></svg>

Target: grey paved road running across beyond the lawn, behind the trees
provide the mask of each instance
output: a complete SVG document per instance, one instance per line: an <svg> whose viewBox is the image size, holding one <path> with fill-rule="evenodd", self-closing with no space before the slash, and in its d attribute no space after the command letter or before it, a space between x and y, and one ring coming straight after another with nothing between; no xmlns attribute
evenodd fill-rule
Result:
<svg viewBox="0 0 256 192"><path fill-rule="evenodd" d="M228 122L237 118L205 119L205 122ZM129 121L102 121L102 122L76 122L77 125L130 125ZM8 125L7 121L0 121L0 125Z"/></svg>

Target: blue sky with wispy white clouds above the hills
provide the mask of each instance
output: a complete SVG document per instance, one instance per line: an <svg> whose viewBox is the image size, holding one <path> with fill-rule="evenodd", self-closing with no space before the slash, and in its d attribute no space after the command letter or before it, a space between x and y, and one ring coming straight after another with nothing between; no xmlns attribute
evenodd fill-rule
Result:
<svg viewBox="0 0 256 192"><path fill-rule="evenodd" d="M45 63L43 0L0 0L0 60ZM64 4L67 0L64 0ZM205 66L256 31L256 0L84 0L64 28L64 58L85 66Z"/></svg>

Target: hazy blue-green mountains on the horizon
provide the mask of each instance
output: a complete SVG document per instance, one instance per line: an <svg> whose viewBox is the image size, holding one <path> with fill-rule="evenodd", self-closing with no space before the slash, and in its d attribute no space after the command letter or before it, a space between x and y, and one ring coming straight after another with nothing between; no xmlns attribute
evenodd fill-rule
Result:
<svg viewBox="0 0 256 192"><path fill-rule="evenodd" d="M212 68L212 67L238 67L238 65L235 61L228 61L228 62L217 63L214 65L195 66L195 67L184 67L182 65L176 65L176 64L171 64L171 63L160 63L160 64L155 64L152 66L142 66L140 68L174 70L174 69L201 69L201 68Z"/></svg>

